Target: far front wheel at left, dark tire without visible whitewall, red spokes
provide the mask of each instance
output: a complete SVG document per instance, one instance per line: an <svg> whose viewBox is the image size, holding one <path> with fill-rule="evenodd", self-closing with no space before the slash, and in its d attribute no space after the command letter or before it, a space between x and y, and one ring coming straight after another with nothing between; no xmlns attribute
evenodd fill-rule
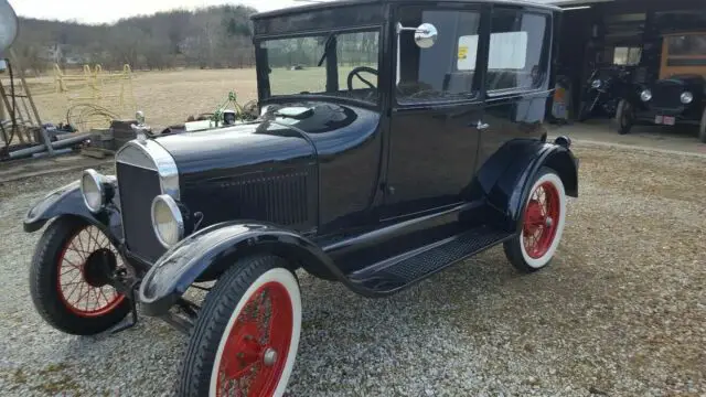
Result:
<svg viewBox="0 0 706 397"><path fill-rule="evenodd" d="M110 276L128 267L98 227L77 217L50 224L36 245L30 292L38 312L54 328L92 335L119 323L129 312Z"/></svg>

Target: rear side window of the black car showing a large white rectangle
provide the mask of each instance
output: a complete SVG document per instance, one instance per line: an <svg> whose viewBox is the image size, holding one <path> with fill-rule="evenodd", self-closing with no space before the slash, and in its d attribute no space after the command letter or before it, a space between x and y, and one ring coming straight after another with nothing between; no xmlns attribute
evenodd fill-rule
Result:
<svg viewBox="0 0 706 397"><path fill-rule="evenodd" d="M493 11L485 86L489 96L542 85L549 58L548 33L547 15Z"/></svg>

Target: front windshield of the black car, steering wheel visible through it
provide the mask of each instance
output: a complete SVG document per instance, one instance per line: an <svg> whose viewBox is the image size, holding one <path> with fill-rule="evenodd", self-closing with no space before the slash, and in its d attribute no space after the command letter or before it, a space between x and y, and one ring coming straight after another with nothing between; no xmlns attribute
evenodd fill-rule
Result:
<svg viewBox="0 0 706 397"><path fill-rule="evenodd" d="M325 95L377 103L377 31L275 39L259 47L267 53L271 96Z"/></svg>

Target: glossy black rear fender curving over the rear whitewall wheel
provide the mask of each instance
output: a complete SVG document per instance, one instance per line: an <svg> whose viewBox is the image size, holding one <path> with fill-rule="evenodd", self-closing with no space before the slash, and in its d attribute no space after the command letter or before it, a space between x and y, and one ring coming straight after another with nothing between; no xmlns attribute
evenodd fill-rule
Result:
<svg viewBox="0 0 706 397"><path fill-rule="evenodd" d="M513 140L498 150L479 170L477 191L480 190L488 205L498 211L506 230L517 230L522 222L523 203L543 167L554 169L564 183L566 194L578 197L578 159L569 146L534 139Z"/></svg>

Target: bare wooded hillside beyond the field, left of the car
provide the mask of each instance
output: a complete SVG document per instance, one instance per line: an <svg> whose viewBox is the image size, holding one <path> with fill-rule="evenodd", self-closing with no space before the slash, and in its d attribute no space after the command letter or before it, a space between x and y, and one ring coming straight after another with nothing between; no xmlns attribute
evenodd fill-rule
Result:
<svg viewBox="0 0 706 397"><path fill-rule="evenodd" d="M172 10L121 19L111 24L81 24L20 18L13 49L35 74L100 64L105 69L174 67L235 68L255 65L250 15L245 6Z"/></svg>

